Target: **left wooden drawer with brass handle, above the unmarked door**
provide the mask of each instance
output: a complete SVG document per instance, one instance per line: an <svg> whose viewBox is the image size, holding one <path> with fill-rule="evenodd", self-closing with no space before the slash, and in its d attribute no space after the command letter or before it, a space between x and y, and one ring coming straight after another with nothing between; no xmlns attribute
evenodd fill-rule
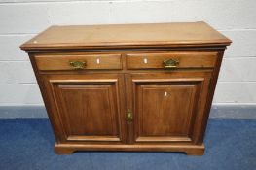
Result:
<svg viewBox="0 0 256 170"><path fill-rule="evenodd" d="M121 54L37 55L39 70L122 69Z"/></svg>

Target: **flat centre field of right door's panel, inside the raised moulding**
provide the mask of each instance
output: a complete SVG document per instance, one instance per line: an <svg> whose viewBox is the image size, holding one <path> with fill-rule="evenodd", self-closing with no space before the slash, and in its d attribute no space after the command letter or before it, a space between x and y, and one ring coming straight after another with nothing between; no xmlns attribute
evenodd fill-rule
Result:
<svg viewBox="0 0 256 170"><path fill-rule="evenodd" d="M140 85L142 135L188 134L195 85ZM173 126L174 124L178 124Z"/></svg>

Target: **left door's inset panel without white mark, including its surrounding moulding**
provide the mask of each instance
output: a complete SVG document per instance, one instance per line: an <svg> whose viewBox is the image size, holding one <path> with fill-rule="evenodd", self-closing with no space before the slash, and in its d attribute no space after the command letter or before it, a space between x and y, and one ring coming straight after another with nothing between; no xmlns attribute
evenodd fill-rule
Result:
<svg viewBox="0 0 256 170"><path fill-rule="evenodd" d="M121 141L116 82L52 84L67 140Z"/></svg>

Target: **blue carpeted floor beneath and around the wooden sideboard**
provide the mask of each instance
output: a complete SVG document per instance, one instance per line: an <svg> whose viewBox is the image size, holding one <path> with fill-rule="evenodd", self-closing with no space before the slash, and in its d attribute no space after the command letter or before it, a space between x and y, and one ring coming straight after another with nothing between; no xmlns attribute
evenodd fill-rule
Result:
<svg viewBox="0 0 256 170"><path fill-rule="evenodd" d="M256 170L256 119L209 119L203 156L85 152L56 155L48 119L0 119L0 170Z"/></svg>

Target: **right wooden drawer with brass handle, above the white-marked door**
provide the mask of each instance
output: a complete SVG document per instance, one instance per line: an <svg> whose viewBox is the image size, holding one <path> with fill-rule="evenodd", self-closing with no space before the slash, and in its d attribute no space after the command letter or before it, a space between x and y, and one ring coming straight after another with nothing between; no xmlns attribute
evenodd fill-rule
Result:
<svg viewBox="0 0 256 170"><path fill-rule="evenodd" d="M128 69L213 68L217 52L128 53Z"/></svg>

